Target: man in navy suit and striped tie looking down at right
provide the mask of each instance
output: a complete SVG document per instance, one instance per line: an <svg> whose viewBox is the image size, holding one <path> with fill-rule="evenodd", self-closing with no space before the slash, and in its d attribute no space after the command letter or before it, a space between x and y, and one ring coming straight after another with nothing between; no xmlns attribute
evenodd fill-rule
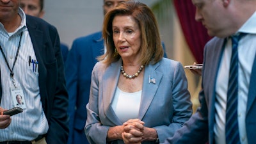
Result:
<svg viewBox="0 0 256 144"><path fill-rule="evenodd" d="M210 36L216 37L204 49L202 91L199 94L201 106L173 138L164 143L255 144L256 1L192 1L196 6L196 20L204 24ZM237 41L232 39L241 33L247 35L236 44ZM237 51L233 52L236 45ZM237 70L232 70L234 54L238 56ZM231 77L233 74L238 78ZM232 85L232 81L236 81L233 83L236 89L232 91L235 95L229 93L228 85ZM231 104L234 107L229 111L230 100L234 100ZM234 114L232 118L230 114ZM236 123L227 126L230 122ZM236 135L230 138L231 134Z"/></svg>

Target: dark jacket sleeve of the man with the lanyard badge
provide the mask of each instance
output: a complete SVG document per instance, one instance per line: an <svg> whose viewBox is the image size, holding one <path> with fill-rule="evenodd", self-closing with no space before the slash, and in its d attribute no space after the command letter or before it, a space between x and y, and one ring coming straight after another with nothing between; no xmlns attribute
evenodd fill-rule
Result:
<svg viewBox="0 0 256 144"><path fill-rule="evenodd" d="M54 28L55 29L55 28ZM56 29L55 29L56 30ZM68 138L68 94L65 88L65 74L63 57L60 49L60 38L58 32L50 31L52 36L52 45L54 56L56 58L56 91L50 95L51 109L49 109L49 131L47 132L47 144L67 143ZM51 77L51 76L50 76ZM52 77L54 78L54 77ZM51 85L51 84L49 84ZM51 89L51 88L49 88ZM51 91L51 90L50 90Z"/></svg>

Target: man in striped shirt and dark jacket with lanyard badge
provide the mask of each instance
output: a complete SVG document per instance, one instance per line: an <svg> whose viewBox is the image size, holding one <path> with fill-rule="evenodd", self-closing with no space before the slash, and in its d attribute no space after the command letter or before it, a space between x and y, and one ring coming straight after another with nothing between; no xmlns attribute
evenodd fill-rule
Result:
<svg viewBox="0 0 256 144"><path fill-rule="evenodd" d="M0 132L3 132L0 141L4 141L1 143L10 143L9 141L29 143L29 141L45 139L47 144L67 143L68 95L65 88L64 65L58 31L42 19L25 15L19 8L19 1L0 1L0 4L0 22L4 26L1 27L1 40L4 40L3 36L7 36L8 33L10 36L19 35L21 40L20 46L16 47L18 49L17 65L11 65L13 68L8 70L7 62L5 63L4 59L1 60L0 110L12 108L12 102L6 99L10 95L6 92L10 91L9 87L13 84L19 86L23 91L23 100L27 105L22 113L12 116L12 119L8 115L0 115L0 129L2 129ZM1 49L8 49L3 41L0 44ZM8 52L4 50L1 54L8 56ZM26 55L28 52L35 55L33 59L36 61L30 61L30 57ZM3 58L2 55L1 58ZM4 68L7 69L7 73ZM4 74L7 75L4 76ZM6 85L9 84L9 80L6 77L8 79L15 77L13 84L10 83L8 87ZM31 81L31 79L35 81ZM38 109L42 109L42 112ZM36 114L39 116L36 117ZM31 122L33 124L31 127L35 124L45 125L45 127L36 127L35 131L35 128L19 122ZM42 124L42 122L44 123ZM19 124L17 125L17 123ZM5 132L10 129L16 129L17 131L13 132L19 137L13 137L12 133ZM23 129L25 130L23 131ZM44 131L38 133L42 129Z"/></svg>

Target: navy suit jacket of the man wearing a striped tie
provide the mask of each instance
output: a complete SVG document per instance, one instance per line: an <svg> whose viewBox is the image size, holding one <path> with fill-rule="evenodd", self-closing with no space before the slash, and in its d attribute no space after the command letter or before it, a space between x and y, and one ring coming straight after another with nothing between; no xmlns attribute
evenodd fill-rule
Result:
<svg viewBox="0 0 256 144"><path fill-rule="evenodd" d="M173 139L168 139L165 143L214 143L214 116L216 99L216 77L220 67L221 56L223 54L223 38L213 38L205 45L204 68L202 73L202 91L199 95L201 108L184 124L182 129L175 133ZM256 143L256 57L253 61L252 74L248 92L248 102L246 106L246 133L248 144Z"/></svg>

